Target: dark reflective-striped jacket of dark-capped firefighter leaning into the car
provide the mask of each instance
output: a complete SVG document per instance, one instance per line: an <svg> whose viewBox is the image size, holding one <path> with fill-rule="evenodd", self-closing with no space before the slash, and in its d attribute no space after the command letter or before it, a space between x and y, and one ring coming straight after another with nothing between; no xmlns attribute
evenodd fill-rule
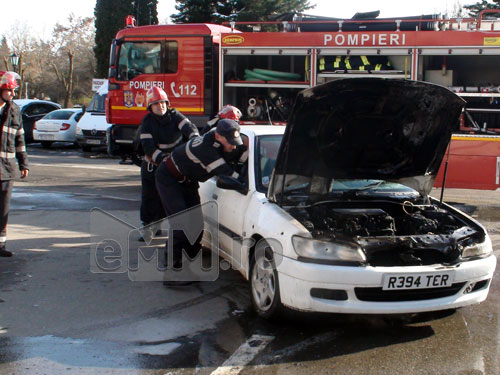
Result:
<svg viewBox="0 0 500 375"><path fill-rule="evenodd" d="M225 153L222 145L215 140L215 129L202 137L190 139L172 152L172 161L179 172L187 179L198 182L220 175L238 178L238 172L228 164L234 158L234 152ZM240 153L240 162L245 162L247 158L248 152Z"/></svg>

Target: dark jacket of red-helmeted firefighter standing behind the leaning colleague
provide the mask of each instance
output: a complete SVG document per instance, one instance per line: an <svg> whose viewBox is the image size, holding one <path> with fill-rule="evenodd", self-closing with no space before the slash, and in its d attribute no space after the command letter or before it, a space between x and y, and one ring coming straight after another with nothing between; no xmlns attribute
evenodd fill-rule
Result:
<svg viewBox="0 0 500 375"><path fill-rule="evenodd" d="M175 108L163 116L148 113L139 132L144 153L156 165L176 146L198 135L196 126Z"/></svg>

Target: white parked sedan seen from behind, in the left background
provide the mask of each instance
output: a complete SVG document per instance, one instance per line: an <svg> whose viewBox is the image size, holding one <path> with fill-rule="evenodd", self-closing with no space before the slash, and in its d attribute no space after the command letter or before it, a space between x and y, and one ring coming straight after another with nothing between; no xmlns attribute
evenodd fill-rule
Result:
<svg viewBox="0 0 500 375"><path fill-rule="evenodd" d="M43 147L50 147L53 142L76 143L76 123L82 117L81 108L63 108L52 111L35 122L33 139Z"/></svg>

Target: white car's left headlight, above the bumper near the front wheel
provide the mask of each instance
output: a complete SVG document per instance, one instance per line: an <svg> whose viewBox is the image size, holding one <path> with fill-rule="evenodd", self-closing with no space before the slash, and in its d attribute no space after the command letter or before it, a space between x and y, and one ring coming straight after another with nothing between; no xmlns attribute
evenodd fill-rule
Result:
<svg viewBox="0 0 500 375"><path fill-rule="evenodd" d="M360 246L350 242L321 241L292 236L292 244L299 257L319 262L366 262Z"/></svg>

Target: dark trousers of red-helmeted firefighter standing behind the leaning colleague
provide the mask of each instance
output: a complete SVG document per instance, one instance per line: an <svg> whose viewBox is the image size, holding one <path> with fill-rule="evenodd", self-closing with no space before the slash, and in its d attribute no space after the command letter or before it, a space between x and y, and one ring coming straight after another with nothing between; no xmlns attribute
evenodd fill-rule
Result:
<svg viewBox="0 0 500 375"><path fill-rule="evenodd" d="M143 161L141 165L141 221L143 225L154 223L165 217L161 199L156 190L156 167Z"/></svg>

